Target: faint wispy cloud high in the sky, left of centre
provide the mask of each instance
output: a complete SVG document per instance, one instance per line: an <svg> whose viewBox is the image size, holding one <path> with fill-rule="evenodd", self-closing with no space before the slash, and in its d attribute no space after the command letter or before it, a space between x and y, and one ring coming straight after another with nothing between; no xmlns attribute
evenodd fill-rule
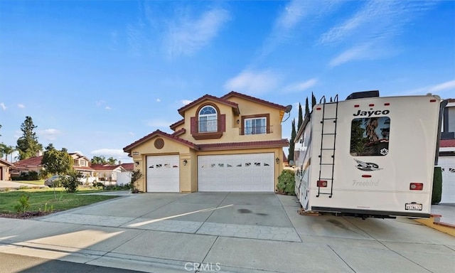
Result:
<svg viewBox="0 0 455 273"><path fill-rule="evenodd" d="M192 55L207 45L230 19L225 9L205 11L200 18L192 20L182 15L180 20L168 26L164 48L170 57Z"/></svg>

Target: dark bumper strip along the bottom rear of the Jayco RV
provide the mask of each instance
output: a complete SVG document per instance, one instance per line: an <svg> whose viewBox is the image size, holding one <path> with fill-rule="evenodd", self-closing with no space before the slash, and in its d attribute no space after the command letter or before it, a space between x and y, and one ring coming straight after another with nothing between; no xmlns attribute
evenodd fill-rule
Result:
<svg viewBox="0 0 455 273"><path fill-rule="evenodd" d="M375 217L375 218L393 218L396 216L429 218L429 213L416 213L411 211L386 211L386 210L355 210L351 208L328 208L328 207L311 207L311 210L321 213L336 213L341 215L351 215L358 217Z"/></svg>

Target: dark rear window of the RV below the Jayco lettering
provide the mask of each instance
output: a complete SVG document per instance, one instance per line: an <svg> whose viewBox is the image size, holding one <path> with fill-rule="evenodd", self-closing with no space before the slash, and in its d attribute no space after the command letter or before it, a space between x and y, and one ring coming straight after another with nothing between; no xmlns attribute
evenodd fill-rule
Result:
<svg viewBox="0 0 455 273"><path fill-rule="evenodd" d="M389 117L353 119L350 127L352 156L385 156L389 153Z"/></svg>

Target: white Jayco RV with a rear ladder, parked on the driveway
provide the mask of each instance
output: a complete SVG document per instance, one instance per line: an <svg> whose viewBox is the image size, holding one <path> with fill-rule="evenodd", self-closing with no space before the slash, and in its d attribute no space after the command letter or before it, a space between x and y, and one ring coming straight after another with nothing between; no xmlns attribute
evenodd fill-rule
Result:
<svg viewBox="0 0 455 273"><path fill-rule="evenodd" d="M436 95L323 97L295 138L296 196L306 212L429 218L441 111Z"/></svg>

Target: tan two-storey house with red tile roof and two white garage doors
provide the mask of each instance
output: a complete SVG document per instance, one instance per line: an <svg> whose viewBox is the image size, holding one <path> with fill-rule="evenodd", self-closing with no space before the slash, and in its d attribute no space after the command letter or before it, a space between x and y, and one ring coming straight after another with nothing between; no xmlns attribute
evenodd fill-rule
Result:
<svg viewBox="0 0 455 273"><path fill-rule="evenodd" d="M286 107L238 92L204 95L178 109L173 134L156 130L124 147L139 191L274 192L283 170Z"/></svg>

